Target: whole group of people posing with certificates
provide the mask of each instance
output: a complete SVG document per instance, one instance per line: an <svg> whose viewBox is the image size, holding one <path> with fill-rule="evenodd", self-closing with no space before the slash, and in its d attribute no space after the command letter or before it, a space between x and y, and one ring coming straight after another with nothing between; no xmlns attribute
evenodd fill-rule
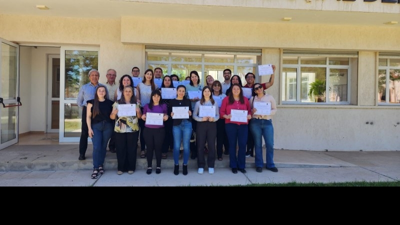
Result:
<svg viewBox="0 0 400 225"><path fill-rule="evenodd" d="M274 65L272 69L275 70ZM222 83L207 75L206 84L202 86L198 72L193 70L186 77L189 84L174 87L173 81L179 81L179 77L175 74L162 77L159 67L145 70L141 82L136 86L133 77L139 77L140 70L135 66L131 73L122 75L118 85L115 82L116 71L108 69L107 82L101 84L98 82L98 70L91 69L88 72L90 82L79 90L77 104L82 108L82 127L78 159L85 159L87 137L90 137L93 143L91 178L97 178L105 172L107 143L110 152L115 152L117 156L117 174L125 171L132 174L139 139L140 157L147 159L147 174L152 172L153 155L155 172L161 172L161 158L166 158L168 149L173 149L175 175L179 174L181 157L182 174L187 174L190 151L192 159L197 157L199 174L203 173L205 165L209 174L214 173L215 157L222 160L222 153L229 155L229 166L233 173L238 170L245 173L245 157L253 156L253 151L256 171L262 172L262 138L266 146L265 167L277 172L273 163L272 126L276 102L265 93L265 89L273 84L274 74L271 74L269 82L261 84L254 83L255 75L249 72L245 75L246 85L242 86L240 77L231 76L231 70L227 68L223 70ZM161 86L158 87L154 78L161 77ZM252 96L249 99L243 95L243 87L251 88ZM162 98L163 88L175 88L176 97ZM130 104L128 114L125 110L118 114L118 109L122 108L118 105L121 104ZM268 104L267 113L257 114L257 105L262 105L260 111L264 111L264 106ZM244 113L240 119L237 119L238 111ZM159 115L159 121L154 123L149 117L153 114L149 113ZM190 141L193 133L195 141Z"/></svg>

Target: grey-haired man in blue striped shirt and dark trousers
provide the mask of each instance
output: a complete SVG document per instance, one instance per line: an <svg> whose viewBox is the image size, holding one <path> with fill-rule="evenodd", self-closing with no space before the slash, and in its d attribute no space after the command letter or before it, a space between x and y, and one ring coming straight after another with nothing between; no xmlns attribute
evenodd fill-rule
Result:
<svg viewBox="0 0 400 225"><path fill-rule="evenodd" d="M90 82L82 85L79 89L79 93L76 99L77 105L82 108L82 127L80 133L80 140L79 140L79 160L85 160L86 157L84 156L87 149L87 137L89 136L89 130L87 128L86 123L86 106L87 100L94 99L94 92L97 86L105 86L98 82L98 78L100 77L100 73L97 69L90 69L89 73ZM107 88L105 88L107 89ZM108 91L106 98L108 98Z"/></svg>

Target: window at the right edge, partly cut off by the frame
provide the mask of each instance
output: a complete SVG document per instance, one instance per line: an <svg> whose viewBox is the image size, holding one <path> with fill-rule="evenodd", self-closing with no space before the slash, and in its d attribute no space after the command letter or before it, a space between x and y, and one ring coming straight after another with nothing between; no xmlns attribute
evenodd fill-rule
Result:
<svg viewBox="0 0 400 225"><path fill-rule="evenodd" d="M379 54L377 76L378 104L400 104L400 55Z"/></svg>

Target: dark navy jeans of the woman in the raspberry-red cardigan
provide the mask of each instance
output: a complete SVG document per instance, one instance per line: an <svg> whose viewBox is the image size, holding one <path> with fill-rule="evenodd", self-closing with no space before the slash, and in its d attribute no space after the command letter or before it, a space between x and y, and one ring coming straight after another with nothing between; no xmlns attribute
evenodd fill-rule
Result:
<svg viewBox="0 0 400 225"><path fill-rule="evenodd" d="M225 123L229 141L229 167L243 169L246 167L247 124ZM236 142L239 145L236 156Z"/></svg>

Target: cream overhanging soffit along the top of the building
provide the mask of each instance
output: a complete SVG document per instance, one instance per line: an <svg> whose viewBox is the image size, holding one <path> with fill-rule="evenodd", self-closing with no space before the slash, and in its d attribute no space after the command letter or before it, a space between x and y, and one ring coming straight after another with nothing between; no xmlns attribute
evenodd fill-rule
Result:
<svg viewBox="0 0 400 225"><path fill-rule="evenodd" d="M389 21L400 20L400 4L382 3L380 0L374 2L363 0L313 0L310 2L305 0L174 0L174 3L163 2L168 2L168 0L40 0L37 2L0 0L0 15L108 19L141 16L290 24L400 26L400 24L385 24ZM49 9L37 9L36 4L45 5ZM285 21L284 17L292 19Z"/></svg>

